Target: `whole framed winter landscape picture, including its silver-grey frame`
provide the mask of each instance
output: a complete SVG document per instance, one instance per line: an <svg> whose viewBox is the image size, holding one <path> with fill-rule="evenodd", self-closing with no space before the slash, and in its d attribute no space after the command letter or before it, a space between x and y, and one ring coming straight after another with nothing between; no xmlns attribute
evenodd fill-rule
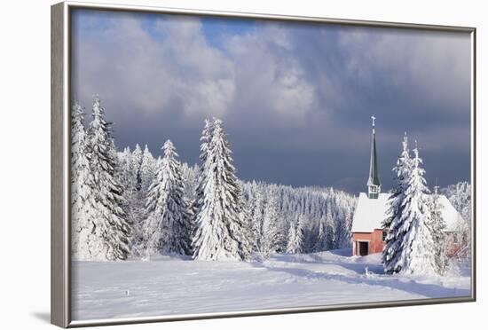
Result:
<svg viewBox="0 0 488 330"><path fill-rule="evenodd" d="M476 299L476 29L51 7L51 322Z"/></svg>

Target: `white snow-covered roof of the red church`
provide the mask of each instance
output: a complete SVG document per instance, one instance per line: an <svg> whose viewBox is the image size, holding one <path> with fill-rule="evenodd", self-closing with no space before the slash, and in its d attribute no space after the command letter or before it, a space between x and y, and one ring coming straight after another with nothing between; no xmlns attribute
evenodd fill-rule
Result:
<svg viewBox="0 0 488 330"><path fill-rule="evenodd" d="M381 229L388 209L389 197L390 193L380 193L377 199L368 199L366 193L359 193L351 232L373 232L374 229ZM439 195L439 203L443 206L442 216L446 225L445 231L454 232L456 225L462 221L462 217L445 195Z"/></svg>

